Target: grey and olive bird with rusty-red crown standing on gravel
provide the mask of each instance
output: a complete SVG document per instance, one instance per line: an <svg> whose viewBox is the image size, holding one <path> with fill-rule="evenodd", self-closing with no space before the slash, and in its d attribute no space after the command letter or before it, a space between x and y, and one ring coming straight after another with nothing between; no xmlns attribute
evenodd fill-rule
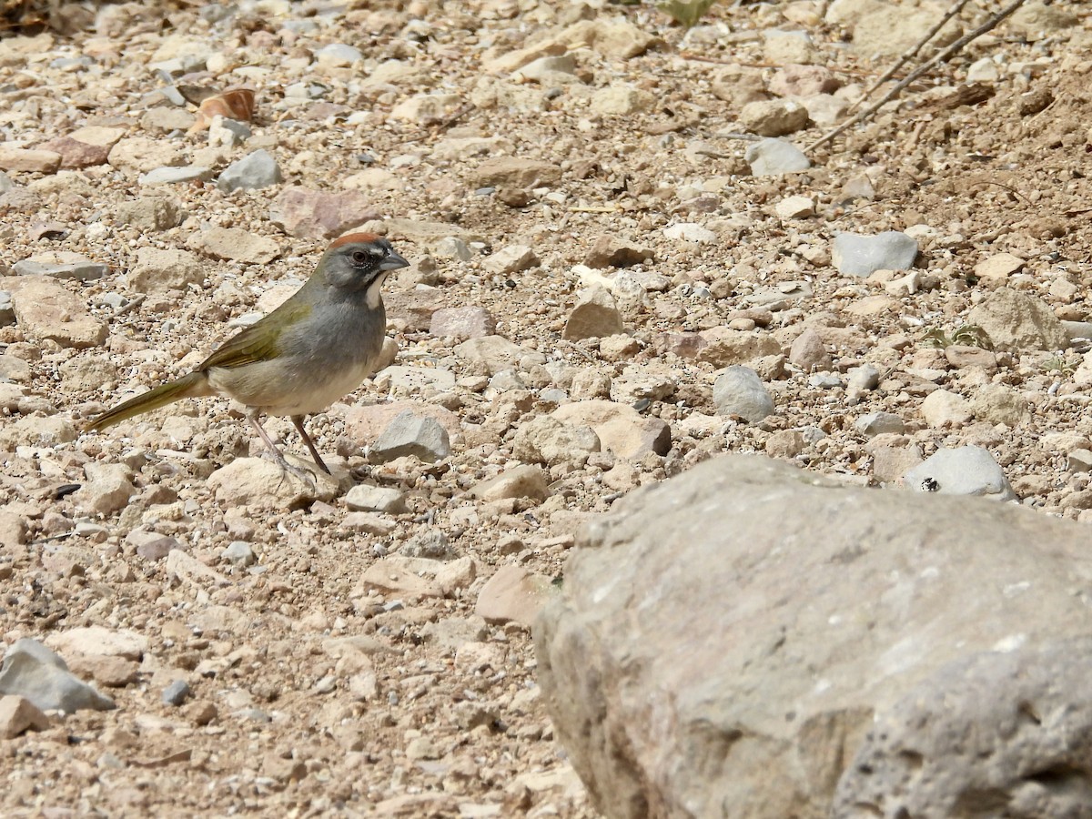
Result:
<svg viewBox="0 0 1092 819"><path fill-rule="evenodd" d="M391 271L408 264L375 234L335 239L311 277L273 312L228 339L192 372L107 410L85 429L102 431L181 399L223 395L247 407L273 459L299 474L260 420L262 415L292 418L316 465L329 475L304 420L378 369L387 334L380 287Z"/></svg>

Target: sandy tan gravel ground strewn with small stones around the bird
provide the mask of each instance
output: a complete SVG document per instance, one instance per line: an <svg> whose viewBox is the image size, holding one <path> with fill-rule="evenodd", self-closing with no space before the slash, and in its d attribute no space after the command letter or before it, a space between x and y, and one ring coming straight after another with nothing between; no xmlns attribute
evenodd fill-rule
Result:
<svg viewBox="0 0 1092 819"><path fill-rule="evenodd" d="M983 357L971 316L1005 283L1060 319L1090 320L1082 3L1025 10L816 151L809 170L771 177L744 161L751 140L740 134L767 122L744 105L798 90L800 72L785 67L809 62L818 73L805 79L833 93L799 96L823 121L890 63L863 46L883 39L883 24L853 31L840 16L847 4L810 2L719 7L685 38L650 7L546 0L128 3L90 24L67 8L69 35L0 39L0 149L87 127L119 133L108 162L78 169L20 169L35 159L0 151L12 183L0 195L0 262L68 251L107 268L86 281L0 281L19 316L0 300L0 622L7 644L88 626L144 642L120 665L95 645L61 652L118 709L55 714L45 731L0 740L7 816L595 816L535 686L525 622L536 604L498 602L486 585L502 567L548 587L582 521L725 451L880 484L938 448L972 443L1004 466L1020 502L1072 519L1092 508L1081 460L1092 369L1080 344ZM915 25L905 28L928 27ZM809 38L778 34L791 31ZM520 72L567 48L571 63ZM972 70L986 75L983 98L960 104ZM252 134L211 145L209 131L188 132L195 106L173 105L168 79L188 94L249 85ZM823 130L812 122L788 139L806 145ZM221 190L221 171L259 149L284 181ZM541 165L497 170L498 157ZM161 166L211 170L141 180ZM353 191L346 209L370 211L365 227L414 263L385 288L395 368L311 422L320 450L337 454L342 486L318 499L283 485L248 495L247 473L225 488L225 465L264 463L244 458L259 447L226 401L80 435L94 413L188 371L309 275L328 238L271 218L294 187ZM790 197L810 207L790 207ZM704 233L678 237L677 225ZM225 249L212 228L244 233L226 234ZM911 280L835 270L838 233L882 230L917 238ZM638 263L602 266L602 237L638 248ZM150 249L187 254L158 269ZM1011 269L1005 253L1018 258ZM593 321L620 318L624 334L562 337L594 281L614 290L614 307ZM488 311L521 358L475 358L434 325L437 310L467 307ZM54 337L62 319L85 320L90 335ZM752 341L725 341L721 328ZM818 347L794 347L808 329ZM713 382L729 364L762 376L773 415L717 415ZM864 365L875 385L855 384ZM927 417L923 401L937 390L969 408ZM658 417L669 450L526 454L529 425L577 399ZM405 407L450 426L450 456L368 460ZM862 434L857 419L876 412L900 416L902 429ZM269 429L304 451L287 419ZM545 491L472 491L529 460L544 462ZM117 464L132 489L120 502L72 491ZM351 508L352 483L399 490L405 511ZM395 565L413 577L390 577ZM440 574L423 581L426 566ZM190 696L164 704L178 679Z"/></svg>

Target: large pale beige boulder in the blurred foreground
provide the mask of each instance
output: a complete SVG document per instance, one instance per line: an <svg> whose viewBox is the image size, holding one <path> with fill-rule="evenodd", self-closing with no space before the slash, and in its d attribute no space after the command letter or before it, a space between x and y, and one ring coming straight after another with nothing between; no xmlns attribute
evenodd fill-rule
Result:
<svg viewBox="0 0 1092 819"><path fill-rule="evenodd" d="M578 545L535 641L608 817L1092 816L1087 527L726 456Z"/></svg>

